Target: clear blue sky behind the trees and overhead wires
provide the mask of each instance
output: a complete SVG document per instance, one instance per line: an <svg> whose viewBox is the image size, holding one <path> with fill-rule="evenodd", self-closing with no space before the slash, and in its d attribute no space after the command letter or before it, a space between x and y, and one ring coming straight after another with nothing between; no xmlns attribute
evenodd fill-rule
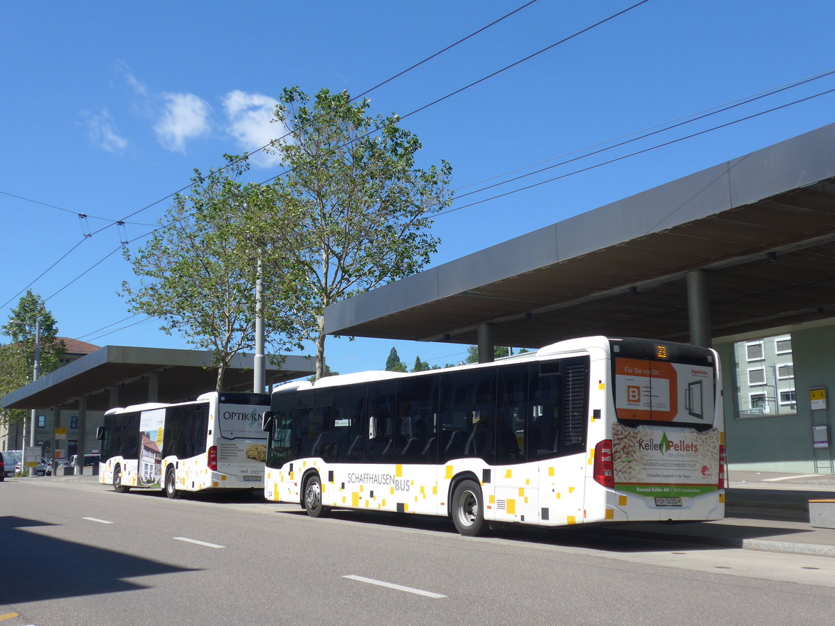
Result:
<svg viewBox="0 0 835 626"><path fill-rule="evenodd" d="M371 111L405 116L635 2L539 0L374 90ZM155 321L125 320L119 291L133 275L120 242L147 233L194 168L266 144L282 88L361 93L523 4L6 3L0 304L9 301L0 320L31 283L48 298L63 336L99 346L188 347ZM461 195L835 69L833 22L835 3L822 0L650 0L402 124L423 142L422 165L453 165ZM626 157L833 88L835 75L818 78L461 198L453 208L462 208L435 222L442 244L433 265L830 124L835 93ZM572 174L619 157L626 158ZM278 171L261 158L252 178ZM466 354L466 346L362 338L329 339L326 350L329 365L347 373L382 369L392 346L408 366L418 355L443 365Z"/></svg>

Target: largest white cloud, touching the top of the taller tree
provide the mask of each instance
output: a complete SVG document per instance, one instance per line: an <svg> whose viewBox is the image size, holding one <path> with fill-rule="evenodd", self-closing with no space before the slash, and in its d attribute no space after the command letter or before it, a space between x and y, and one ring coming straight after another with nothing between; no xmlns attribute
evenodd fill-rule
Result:
<svg viewBox="0 0 835 626"><path fill-rule="evenodd" d="M223 109L229 119L228 132L237 139L240 149L246 152L261 148L271 140L286 133L283 124L271 122L278 100L261 93L245 93L240 90L230 91L223 98ZM261 167L281 163L277 154L265 150L253 154L251 162Z"/></svg>

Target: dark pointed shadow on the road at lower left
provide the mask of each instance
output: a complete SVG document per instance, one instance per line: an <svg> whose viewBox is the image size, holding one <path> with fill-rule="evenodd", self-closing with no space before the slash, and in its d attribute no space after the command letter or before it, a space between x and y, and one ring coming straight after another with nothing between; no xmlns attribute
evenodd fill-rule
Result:
<svg viewBox="0 0 835 626"><path fill-rule="evenodd" d="M48 526L55 524L0 516L0 605L135 591L145 587L124 578L194 571L25 530Z"/></svg>

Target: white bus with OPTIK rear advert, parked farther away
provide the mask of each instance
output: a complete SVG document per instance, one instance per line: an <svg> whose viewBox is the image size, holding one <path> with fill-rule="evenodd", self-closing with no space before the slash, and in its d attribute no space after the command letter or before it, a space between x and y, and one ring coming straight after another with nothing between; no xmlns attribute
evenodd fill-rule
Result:
<svg viewBox="0 0 835 626"><path fill-rule="evenodd" d="M179 404L149 403L104 414L99 482L178 492L263 488L270 408L266 393L217 393Z"/></svg>

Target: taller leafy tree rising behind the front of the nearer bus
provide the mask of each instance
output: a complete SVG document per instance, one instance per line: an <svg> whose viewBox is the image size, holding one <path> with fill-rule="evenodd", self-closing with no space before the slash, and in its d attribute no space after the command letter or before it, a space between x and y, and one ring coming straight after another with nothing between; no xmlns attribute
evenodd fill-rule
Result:
<svg viewBox="0 0 835 626"><path fill-rule="evenodd" d="M286 88L276 107L290 137L273 149L288 170L275 180L276 210L262 230L280 241L317 377L325 307L423 269L438 247L432 215L452 201L450 165L418 168L417 136L397 115L372 117L368 107L324 88L312 101Z"/></svg>

